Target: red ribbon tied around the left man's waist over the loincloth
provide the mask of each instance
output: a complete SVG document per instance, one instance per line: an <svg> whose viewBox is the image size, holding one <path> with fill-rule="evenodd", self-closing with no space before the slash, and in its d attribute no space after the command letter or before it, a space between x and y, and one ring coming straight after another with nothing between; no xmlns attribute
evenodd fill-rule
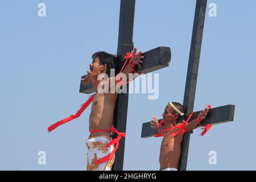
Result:
<svg viewBox="0 0 256 182"><path fill-rule="evenodd" d="M115 148L114 148L114 150L113 150L112 152L110 152L108 155L104 156L103 158L100 158L100 159L95 160L94 163L96 163L96 164L104 163L104 162L106 162L106 161L108 161L108 160L110 160L110 159L113 159L113 158L114 158L115 151L118 150L120 139L121 139L122 137L125 137L125 133L119 133L119 132L117 131L117 129L114 128L114 126L112 126L110 130L111 130L113 133L116 133L116 134L117 134L117 138L111 140L108 144L106 144L106 147L109 147L110 144L115 144ZM90 131L90 132L93 132L93 133L94 133L95 130L94 130L94 131Z"/></svg>

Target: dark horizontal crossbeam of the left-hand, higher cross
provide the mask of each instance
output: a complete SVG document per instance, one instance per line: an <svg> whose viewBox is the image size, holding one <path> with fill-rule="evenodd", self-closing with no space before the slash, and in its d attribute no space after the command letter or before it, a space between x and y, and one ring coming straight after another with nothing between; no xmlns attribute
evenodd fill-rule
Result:
<svg viewBox="0 0 256 182"><path fill-rule="evenodd" d="M170 47L157 47L151 49L150 51L144 52L143 56L143 66L141 68L135 67L135 71L138 73L149 73L170 65L171 49ZM85 76L86 75L82 76L82 78ZM80 83L80 93L90 94L95 91L96 89L93 88L92 84L83 86L82 82Z"/></svg>

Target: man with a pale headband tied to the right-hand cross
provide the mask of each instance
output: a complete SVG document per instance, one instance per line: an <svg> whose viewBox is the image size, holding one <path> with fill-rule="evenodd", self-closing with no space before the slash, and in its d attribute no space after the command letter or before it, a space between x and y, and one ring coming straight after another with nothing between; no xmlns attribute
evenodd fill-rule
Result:
<svg viewBox="0 0 256 182"><path fill-rule="evenodd" d="M162 114L163 120L160 123L158 119L153 116L151 127L154 127L159 133L159 135L155 137L163 137L159 156L161 171L177 171L183 134L195 129L197 125L200 125L200 122L207 116L208 109L209 108L205 108L201 110L197 119L189 123L184 121L183 123L178 123L184 115L184 108L178 102L169 102L164 109L164 113ZM162 123L164 123L164 126L162 126Z"/></svg>

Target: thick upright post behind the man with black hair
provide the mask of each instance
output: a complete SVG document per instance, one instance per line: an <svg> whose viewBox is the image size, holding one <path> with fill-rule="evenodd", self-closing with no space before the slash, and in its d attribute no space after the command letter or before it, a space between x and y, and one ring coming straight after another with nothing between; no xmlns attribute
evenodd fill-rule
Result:
<svg viewBox="0 0 256 182"><path fill-rule="evenodd" d="M121 56L122 62L126 52L133 50L133 23L134 23L135 0L121 0L119 15L119 34L117 55ZM122 65L118 65L118 70ZM127 85L127 93L118 94L114 111L114 127L119 132L126 132L127 107L129 96L129 85ZM119 148L115 152L114 171L123 170L123 157L125 154L125 138L119 142Z"/></svg>

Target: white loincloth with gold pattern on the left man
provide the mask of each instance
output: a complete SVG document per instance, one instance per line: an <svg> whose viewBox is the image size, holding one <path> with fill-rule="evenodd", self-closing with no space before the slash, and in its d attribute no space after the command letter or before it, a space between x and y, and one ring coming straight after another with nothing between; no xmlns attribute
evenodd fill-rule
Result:
<svg viewBox="0 0 256 182"><path fill-rule="evenodd" d="M106 136L92 137L87 140L87 171L111 171L114 158L101 164L94 163L94 160L100 159L114 150L113 144L106 147L110 141L110 138Z"/></svg>

